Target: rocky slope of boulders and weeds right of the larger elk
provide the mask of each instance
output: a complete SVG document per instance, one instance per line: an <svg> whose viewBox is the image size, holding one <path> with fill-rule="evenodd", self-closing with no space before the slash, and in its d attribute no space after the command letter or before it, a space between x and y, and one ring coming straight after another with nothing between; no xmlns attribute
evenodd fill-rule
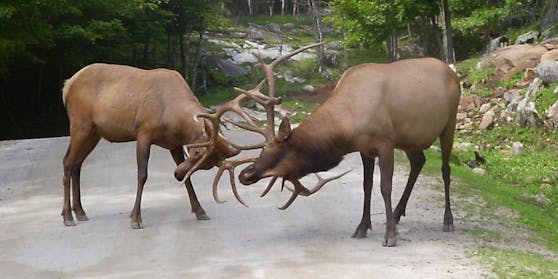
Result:
<svg viewBox="0 0 558 279"><path fill-rule="evenodd" d="M500 47L460 69L458 129L558 129L558 38ZM476 62L476 61L475 61Z"/></svg>

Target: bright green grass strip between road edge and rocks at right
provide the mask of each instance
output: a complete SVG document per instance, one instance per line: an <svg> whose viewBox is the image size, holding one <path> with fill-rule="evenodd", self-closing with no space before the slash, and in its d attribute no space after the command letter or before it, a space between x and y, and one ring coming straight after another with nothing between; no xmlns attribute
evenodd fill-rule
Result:
<svg viewBox="0 0 558 279"><path fill-rule="evenodd" d="M538 177L548 174L549 166L545 164L550 164L550 168L554 168L553 166L556 166L556 156L558 154L548 155L541 152L538 155L540 157L537 157L536 152L527 150L525 152L524 156L519 156L519 158L525 161L504 163L498 161L497 156L499 155L481 151L488 165L488 173L484 176L473 173L466 166L452 164L452 193L464 197L482 198L484 204L488 207L478 212L488 218L507 218L493 216L494 209L491 210L491 206L503 206L511 209L516 213L516 216L509 216L509 218L531 229L537 235L537 239L533 241L558 252L558 233L556 229L558 228L558 212L556 205L554 202L542 204L532 197L533 193L536 193L536 190L539 189L534 186L538 185ZM424 172L439 177L441 167L440 152L427 150L425 153L427 163L424 167ZM460 157L461 161L466 162L468 158L473 157L473 154L472 152L470 154L461 152L457 156ZM535 163L534 161L537 160L541 162ZM519 167L515 166L516 164ZM552 164L554 165L552 166ZM509 169L506 170L506 168ZM503 174L507 176L503 177ZM552 186L544 189L556 190L556 188L556 186ZM532 192L533 190L535 192ZM547 194L550 200L555 199L555 196L552 196L555 193Z"/></svg>

